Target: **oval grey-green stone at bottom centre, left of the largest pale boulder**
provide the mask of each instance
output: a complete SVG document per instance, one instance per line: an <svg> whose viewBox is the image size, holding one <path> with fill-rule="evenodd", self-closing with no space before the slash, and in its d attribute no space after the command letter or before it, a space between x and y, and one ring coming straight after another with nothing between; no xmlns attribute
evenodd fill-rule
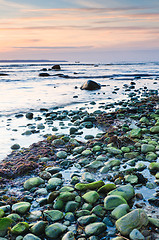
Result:
<svg viewBox="0 0 159 240"><path fill-rule="evenodd" d="M86 226L85 233L87 236L98 236L107 229L106 225L102 222L91 223Z"/></svg>

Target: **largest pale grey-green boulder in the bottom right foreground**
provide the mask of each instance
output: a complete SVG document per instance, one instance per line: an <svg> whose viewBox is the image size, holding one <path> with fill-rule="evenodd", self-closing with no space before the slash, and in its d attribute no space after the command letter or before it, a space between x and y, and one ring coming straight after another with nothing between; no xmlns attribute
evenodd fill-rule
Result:
<svg viewBox="0 0 159 240"><path fill-rule="evenodd" d="M128 235L133 229L140 229L142 226L146 226L148 222L149 220L145 211L142 209L135 209L119 218L115 225L121 234Z"/></svg>

